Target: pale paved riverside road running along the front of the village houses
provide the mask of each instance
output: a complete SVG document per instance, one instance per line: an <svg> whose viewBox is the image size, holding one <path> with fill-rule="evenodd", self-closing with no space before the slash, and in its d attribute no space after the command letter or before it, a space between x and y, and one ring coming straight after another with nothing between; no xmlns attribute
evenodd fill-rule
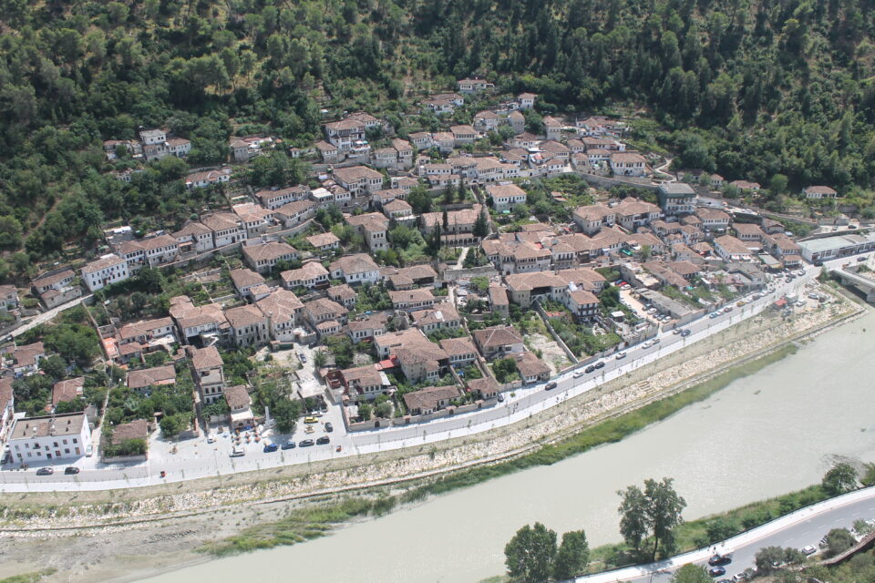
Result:
<svg viewBox="0 0 875 583"><path fill-rule="evenodd" d="M551 391L545 391L543 383L523 387L504 404L488 407L479 412L458 414L425 424L359 432L355 435L345 435L341 431L343 425L335 424L336 430L331 435L330 445L299 447L271 454L264 454L257 445L251 445L244 457L231 458L229 457L230 439L224 438L216 444L206 444L205 441L201 441L199 445L191 448L185 445L186 449L191 449L192 455L185 455L184 458L182 455L164 457L152 455L145 464L102 465L98 464L95 458L83 458L77 462L82 470L76 476L65 476L61 471L56 471L54 476L36 476L36 465L32 465L28 470L11 469L0 472L0 491L99 490L149 486L281 465L309 464L348 455L425 445L449 438L475 435L523 421L531 414L539 413L565 399L591 391L640 366L681 350L687 344L703 341L716 332L763 312L772 302L788 292L804 292L805 283L816 277L819 272L820 268L808 266L804 276L797 277L790 283L779 280L774 292L767 293L755 302L748 303L742 308L736 307L732 312L720 313L715 318L705 315L685 326L691 331L691 334L685 338L670 331L661 332L659 336L661 342L654 347L644 348L639 344L628 348L624 351L625 358L606 359L604 368L595 373L586 374L582 378L573 378L571 372L565 373L554 379L558 386ZM336 451L337 445L341 446L342 451ZM160 477L161 471L166 472L166 477Z"/></svg>

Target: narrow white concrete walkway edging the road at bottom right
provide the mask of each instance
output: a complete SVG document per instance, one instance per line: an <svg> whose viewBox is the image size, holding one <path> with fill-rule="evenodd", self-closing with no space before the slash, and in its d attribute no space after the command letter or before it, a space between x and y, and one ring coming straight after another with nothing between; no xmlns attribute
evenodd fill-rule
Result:
<svg viewBox="0 0 875 583"><path fill-rule="evenodd" d="M674 569L682 567L688 563L699 563L707 561L707 559L715 554L715 551L724 553L733 553L736 550L756 545L757 541L775 535L789 527L794 527L801 522L807 521L813 517L828 515L829 513L837 512L842 508L854 504L858 504L865 500L875 500L875 486L855 490L848 494L830 498L817 504L806 506L796 512L791 512L783 517L776 518L771 522L767 522L760 527L752 528L740 535L732 538L727 538L721 543L716 543L710 547L697 548L683 555L667 558L655 563L647 565L637 565L635 567L626 567L596 573L585 577L575 578L574 581L582 583L614 583L615 581L633 581L641 578L651 578L654 575L666 575ZM824 533L826 534L826 533Z"/></svg>

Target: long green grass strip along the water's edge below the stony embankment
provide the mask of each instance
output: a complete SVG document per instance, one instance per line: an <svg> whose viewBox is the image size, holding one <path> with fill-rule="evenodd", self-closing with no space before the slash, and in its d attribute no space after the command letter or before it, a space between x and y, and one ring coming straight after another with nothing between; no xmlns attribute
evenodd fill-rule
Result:
<svg viewBox="0 0 875 583"><path fill-rule="evenodd" d="M507 476L514 472L537 465L551 465L560 462L571 455L582 454L597 445L618 442L623 437L632 435L649 424L662 421L675 414L688 404L702 401L715 394L737 379L743 378L763 369L771 363L776 363L785 356L796 352L792 344L782 347L775 353L758 358L750 363L733 367L725 373L720 373L702 384L674 394L655 403L644 405L640 409L608 419L572 435L559 444L543 445L540 449L512 460L494 465L481 465L471 469L443 476L435 482L414 488L402 496L404 502L421 500L429 495L444 494L456 488L475 486L492 478Z"/></svg>

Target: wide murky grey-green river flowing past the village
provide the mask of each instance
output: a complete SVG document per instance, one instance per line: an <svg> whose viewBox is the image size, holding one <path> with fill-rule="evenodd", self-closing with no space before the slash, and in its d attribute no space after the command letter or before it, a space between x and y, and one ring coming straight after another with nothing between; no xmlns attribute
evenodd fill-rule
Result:
<svg viewBox="0 0 875 583"><path fill-rule="evenodd" d="M148 581L474 583L504 571L503 547L527 523L619 540L616 492L648 477L674 477L687 518L783 494L818 482L835 455L875 460L873 353L870 314L620 443Z"/></svg>

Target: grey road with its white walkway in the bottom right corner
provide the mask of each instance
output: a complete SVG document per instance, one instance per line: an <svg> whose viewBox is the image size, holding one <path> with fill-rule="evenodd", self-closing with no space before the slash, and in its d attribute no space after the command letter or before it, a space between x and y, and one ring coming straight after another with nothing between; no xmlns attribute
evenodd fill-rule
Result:
<svg viewBox="0 0 875 583"><path fill-rule="evenodd" d="M746 568L756 568L755 557L764 547L794 547L801 549L811 545L818 547L820 539L833 528L850 528L854 521L875 518L875 487L857 490L802 508L792 514L777 518L761 527L727 539L715 547L699 548L695 551L658 561L640 567L616 569L589 577L579 577L579 583L613 583L630 581L633 583L667 583L674 570L688 563L707 567L708 557L715 549L721 553L732 553L732 562L726 568L726 575L732 578Z"/></svg>

